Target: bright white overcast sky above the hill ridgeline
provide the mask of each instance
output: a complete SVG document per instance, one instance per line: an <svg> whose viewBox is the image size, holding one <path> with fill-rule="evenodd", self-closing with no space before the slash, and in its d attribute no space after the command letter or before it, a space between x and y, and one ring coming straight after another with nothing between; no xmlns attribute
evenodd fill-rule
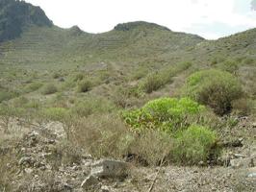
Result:
<svg viewBox="0 0 256 192"><path fill-rule="evenodd" d="M103 33L116 24L147 21L217 39L256 28L256 0L26 0L55 25Z"/></svg>

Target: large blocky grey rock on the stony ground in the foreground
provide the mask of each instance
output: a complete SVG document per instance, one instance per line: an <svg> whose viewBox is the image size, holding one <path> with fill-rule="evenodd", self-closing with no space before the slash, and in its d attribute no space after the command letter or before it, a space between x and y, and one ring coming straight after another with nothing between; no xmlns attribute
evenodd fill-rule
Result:
<svg viewBox="0 0 256 192"><path fill-rule="evenodd" d="M103 159L91 165L91 175L95 177L126 177L128 164L118 160Z"/></svg>

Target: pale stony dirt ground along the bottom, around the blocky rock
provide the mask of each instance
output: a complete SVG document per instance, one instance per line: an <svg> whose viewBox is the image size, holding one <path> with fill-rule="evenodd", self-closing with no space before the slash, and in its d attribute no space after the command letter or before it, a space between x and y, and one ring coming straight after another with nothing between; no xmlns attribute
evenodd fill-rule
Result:
<svg viewBox="0 0 256 192"><path fill-rule="evenodd" d="M5 164L7 170L13 166L18 167L18 172L10 179L12 191L89 191L83 189L81 183L89 176L90 164L95 159L81 151L82 154L79 156L72 156L77 158L74 160L75 163L64 163L64 151L72 149L64 149L66 147L62 146L64 131L60 124L47 124L43 129L32 126L30 129L24 128L19 131L22 134L13 135L18 137L13 146L1 146L1 157L6 156L8 150L15 150L18 153L13 164ZM256 173L256 168L130 165L127 178L99 179L99 183L90 191L254 192L256 178L248 177L250 173ZM4 188L3 191L8 190Z"/></svg>

